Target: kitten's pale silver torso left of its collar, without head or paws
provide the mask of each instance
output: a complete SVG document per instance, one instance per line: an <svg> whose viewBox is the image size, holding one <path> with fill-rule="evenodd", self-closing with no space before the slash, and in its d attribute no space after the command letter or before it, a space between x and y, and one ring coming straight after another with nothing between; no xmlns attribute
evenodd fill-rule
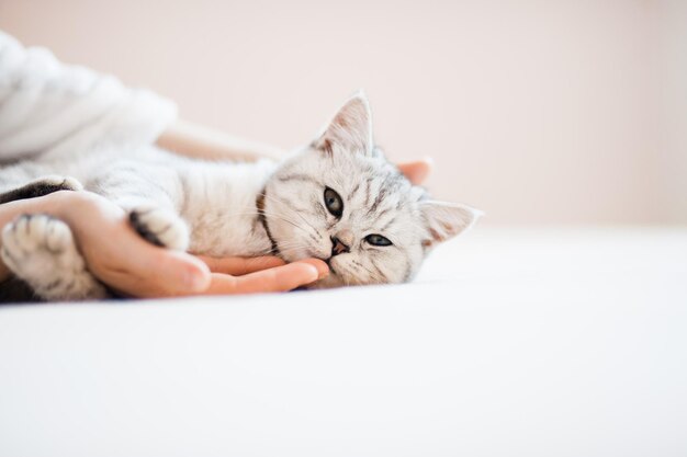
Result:
<svg viewBox="0 0 687 457"><path fill-rule="evenodd" d="M81 157L20 163L0 171L0 194L45 175L71 176L83 190L106 196L125 209L155 202L185 222L190 252L213 256L255 256L270 252L271 243L256 208L257 196L278 163L193 160L148 146L100 149ZM19 184L19 183L18 183ZM227 230L230 228L230 230Z"/></svg>

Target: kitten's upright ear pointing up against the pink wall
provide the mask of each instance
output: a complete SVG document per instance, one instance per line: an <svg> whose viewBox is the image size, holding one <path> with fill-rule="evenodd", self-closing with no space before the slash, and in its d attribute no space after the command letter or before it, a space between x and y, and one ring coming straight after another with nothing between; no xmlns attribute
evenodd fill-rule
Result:
<svg viewBox="0 0 687 457"><path fill-rule="evenodd" d="M372 116L368 98L362 91L341 106L313 147L325 152L342 149L365 156L373 153Z"/></svg>

